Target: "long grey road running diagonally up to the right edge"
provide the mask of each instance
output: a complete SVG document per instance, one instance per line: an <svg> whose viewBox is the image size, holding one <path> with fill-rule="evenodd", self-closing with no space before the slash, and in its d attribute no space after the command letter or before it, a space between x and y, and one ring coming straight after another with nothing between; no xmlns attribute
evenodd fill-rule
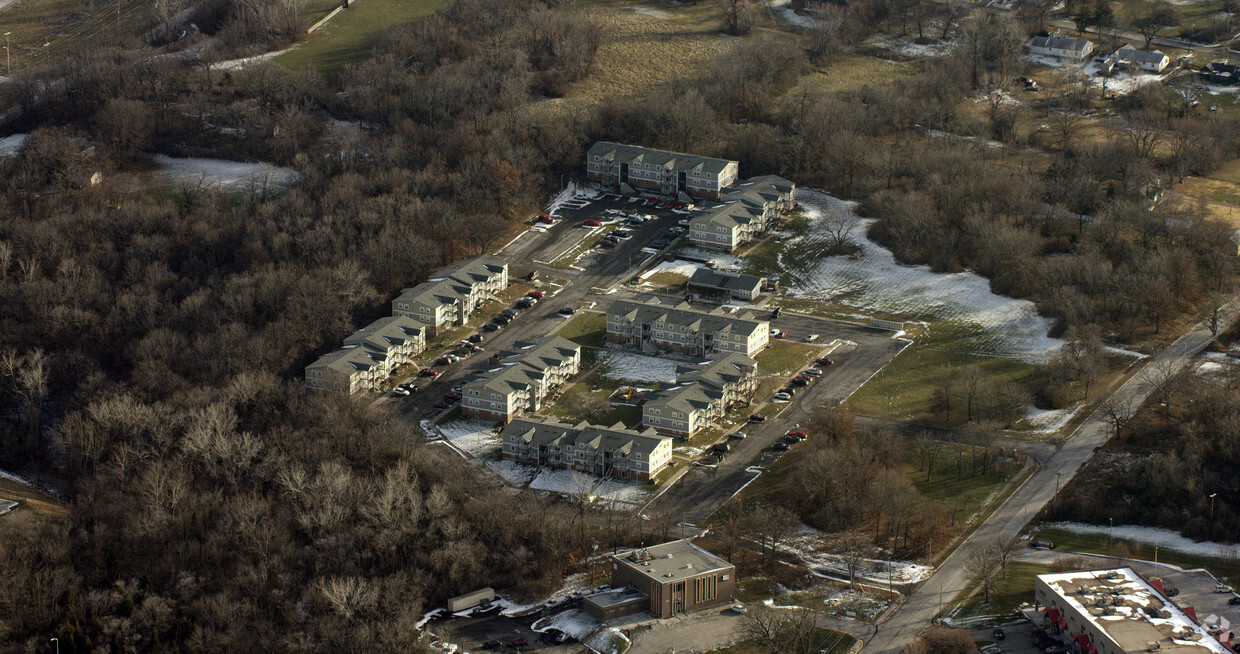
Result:
<svg viewBox="0 0 1240 654"><path fill-rule="evenodd" d="M1238 304L1240 300L1233 302L1224 309L1225 324L1230 325L1235 320ZM1153 366L1166 362L1182 366L1204 349L1211 338L1210 330L1204 324L1197 325L1169 347L1148 360L1146 370L1133 375L1112 396L1131 400L1133 406L1141 403L1149 395L1147 374L1153 370ZM968 540L942 562L934 576L914 591L900 609L879 625L874 638L866 644L866 652L899 652L900 648L911 643L918 633L942 611L945 604L940 602L950 601L968 586L963 570L968 553L996 539L1018 536L1024 529L1028 515L1042 510L1054 498L1060 485L1071 480L1073 475L1094 455L1094 450L1106 442L1109 436L1110 427L1101 412L1091 414L1019 490L1008 498Z"/></svg>

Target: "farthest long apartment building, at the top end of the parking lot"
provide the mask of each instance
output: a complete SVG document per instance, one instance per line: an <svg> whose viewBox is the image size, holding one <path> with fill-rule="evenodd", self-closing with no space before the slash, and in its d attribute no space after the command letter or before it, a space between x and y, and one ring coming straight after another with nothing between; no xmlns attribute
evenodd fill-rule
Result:
<svg viewBox="0 0 1240 654"><path fill-rule="evenodd" d="M599 141L585 154L585 176L627 192L719 199L737 181L739 161ZM627 189L626 189L627 186Z"/></svg>

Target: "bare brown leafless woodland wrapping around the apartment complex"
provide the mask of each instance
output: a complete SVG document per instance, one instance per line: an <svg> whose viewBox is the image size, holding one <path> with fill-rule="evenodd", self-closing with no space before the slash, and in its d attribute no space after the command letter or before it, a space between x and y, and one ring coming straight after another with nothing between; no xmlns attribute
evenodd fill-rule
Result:
<svg viewBox="0 0 1240 654"><path fill-rule="evenodd" d="M211 6L221 38L281 38L283 5ZM410 424L296 382L393 292L494 244L598 138L727 155L745 175L862 200L903 259L987 274L1085 344L1157 331L1229 288L1225 231L1149 202L1235 156L1226 119L1138 93L1102 140L1048 118L1061 124L1033 143L1055 153L1045 169L926 138L1025 145L1002 104L981 122L960 107L1004 87L1027 25L962 20L967 47L921 74L777 99L852 47L841 34L901 11L858 2L799 40L750 36L675 88L567 118L522 109L591 74L605 35L572 5L533 0L456 0L335 77L222 72L140 47L38 71L58 82L20 84L9 128L31 137L0 163L0 465L61 488L72 516L0 524L0 647L46 650L56 634L66 652L417 650L413 624L446 596L536 596L593 540L652 537L481 484ZM1073 98L1048 115L1096 102ZM136 174L156 151L268 160L301 181L149 189ZM768 524L868 525L873 541L915 547L942 520L842 520L856 494L897 506L910 488L882 438L825 443L797 473L806 483L841 455L873 464L813 501L764 509Z"/></svg>

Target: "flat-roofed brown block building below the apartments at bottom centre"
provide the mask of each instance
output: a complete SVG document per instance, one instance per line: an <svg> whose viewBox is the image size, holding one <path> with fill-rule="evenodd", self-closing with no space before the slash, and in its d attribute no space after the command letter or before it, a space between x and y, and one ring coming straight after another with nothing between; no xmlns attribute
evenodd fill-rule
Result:
<svg viewBox="0 0 1240 654"><path fill-rule="evenodd" d="M582 608L610 620L649 611L656 618L730 604L737 568L688 539L611 555L611 589Z"/></svg>

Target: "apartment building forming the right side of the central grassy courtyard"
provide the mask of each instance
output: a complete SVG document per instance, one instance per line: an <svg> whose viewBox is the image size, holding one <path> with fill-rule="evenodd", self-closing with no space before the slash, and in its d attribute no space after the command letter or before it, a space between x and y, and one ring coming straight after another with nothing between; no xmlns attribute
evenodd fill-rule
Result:
<svg viewBox="0 0 1240 654"><path fill-rule="evenodd" d="M743 354L720 355L698 367L684 369L676 386L660 391L641 406L641 424L660 433L688 438L748 402L758 390L758 361Z"/></svg>

